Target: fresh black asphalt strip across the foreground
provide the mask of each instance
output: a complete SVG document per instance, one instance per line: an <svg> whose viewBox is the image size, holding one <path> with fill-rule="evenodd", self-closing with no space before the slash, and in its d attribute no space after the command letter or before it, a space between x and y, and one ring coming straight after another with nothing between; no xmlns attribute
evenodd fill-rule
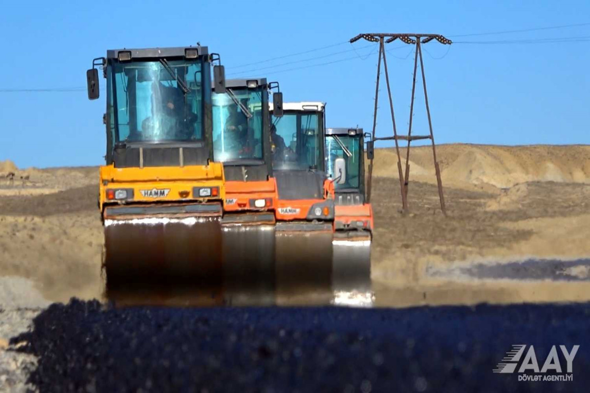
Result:
<svg viewBox="0 0 590 393"><path fill-rule="evenodd" d="M590 303L352 308L54 304L14 338L40 391L587 391ZM572 382L493 369L515 344L580 345ZM559 351L559 350L558 350ZM560 356L565 370L565 359Z"/></svg>

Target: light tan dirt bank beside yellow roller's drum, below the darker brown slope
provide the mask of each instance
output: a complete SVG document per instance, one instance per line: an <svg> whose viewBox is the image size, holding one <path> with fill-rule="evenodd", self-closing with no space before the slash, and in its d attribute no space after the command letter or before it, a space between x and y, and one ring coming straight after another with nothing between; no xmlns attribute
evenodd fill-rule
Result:
<svg viewBox="0 0 590 393"><path fill-rule="evenodd" d="M0 275L31 279L50 300L100 298L102 243L98 209L45 217L0 215Z"/></svg>

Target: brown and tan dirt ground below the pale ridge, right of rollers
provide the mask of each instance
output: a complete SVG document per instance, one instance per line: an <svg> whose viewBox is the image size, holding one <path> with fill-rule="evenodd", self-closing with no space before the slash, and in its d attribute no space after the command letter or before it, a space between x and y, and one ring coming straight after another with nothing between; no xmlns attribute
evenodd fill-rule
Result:
<svg viewBox="0 0 590 393"><path fill-rule="evenodd" d="M465 280L428 270L509 260L590 256L590 185L535 182L497 193L414 182L411 214L399 213L399 183L374 179L372 278L378 305L559 302L590 299L590 281ZM380 296L381 295L381 296Z"/></svg>

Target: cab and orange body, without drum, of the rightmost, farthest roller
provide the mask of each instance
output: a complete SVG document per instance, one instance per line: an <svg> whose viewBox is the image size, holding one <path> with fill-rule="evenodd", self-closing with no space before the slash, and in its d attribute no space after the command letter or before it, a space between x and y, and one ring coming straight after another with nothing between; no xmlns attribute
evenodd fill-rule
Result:
<svg viewBox="0 0 590 393"><path fill-rule="evenodd" d="M327 176L335 188L335 236L370 235L373 230L371 204L365 202L364 146L362 128L326 130Z"/></svg>

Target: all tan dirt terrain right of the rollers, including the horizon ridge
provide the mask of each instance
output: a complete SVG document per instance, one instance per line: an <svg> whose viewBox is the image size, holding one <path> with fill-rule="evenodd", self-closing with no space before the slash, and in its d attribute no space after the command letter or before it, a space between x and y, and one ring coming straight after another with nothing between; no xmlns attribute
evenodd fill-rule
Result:
<svg viewBox="0 0 590 393"><path fill-rule="evenodd" d="M375 156L372 276L385 294L381 305L590 298L587 282L450 282L425 273L481 260L590 256L590 146L437 146L447 218L430 146L411 148L408 217L399 214L395 149Z"/></svg>

